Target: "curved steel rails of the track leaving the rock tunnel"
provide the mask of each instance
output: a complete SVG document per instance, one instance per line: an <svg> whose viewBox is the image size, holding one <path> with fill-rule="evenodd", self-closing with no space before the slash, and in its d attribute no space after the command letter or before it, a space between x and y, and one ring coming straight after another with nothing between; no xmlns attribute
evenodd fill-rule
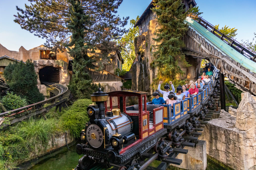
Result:
<svg viewBox="0 0 256 170"><path fill-rule="evenodd" d="M59 93L57 95L55 94L56 96L51 97L49 99L46 99L46 100L43 100L43 101L40 101L40 102L37 102L34 104L30 104L28 106L24 106L24 107L21 107L18 109L0 113L0 116L4 116L4 115L10 114L10 113L23 113L24 111L27 111L28 109L30 110L31 108L36 108L37 106L42 106L43 104L46 104L54 99L56 101L58 99L58 97L66 94L69 91L68 87L65 85L62 85L62 84L57 84L57 83L52 83L52 82L43 82L43 83L46 84L47 86L54 88L55 90L57 89L59 91ZM15 115L15 114L12 114L12 115Z"/></svg>

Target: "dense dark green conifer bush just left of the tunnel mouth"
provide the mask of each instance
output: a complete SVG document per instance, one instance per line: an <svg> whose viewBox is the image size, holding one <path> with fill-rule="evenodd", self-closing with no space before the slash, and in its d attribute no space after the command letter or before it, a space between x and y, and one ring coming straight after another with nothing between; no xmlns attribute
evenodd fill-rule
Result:
<svg viewBox="0 0 256 170"><path fill-rule="evenodd" d="M44 100L37 88L37 75L33 61L10 63L4 70L4 77L10 89L26 99L28 104Z"/></svg>

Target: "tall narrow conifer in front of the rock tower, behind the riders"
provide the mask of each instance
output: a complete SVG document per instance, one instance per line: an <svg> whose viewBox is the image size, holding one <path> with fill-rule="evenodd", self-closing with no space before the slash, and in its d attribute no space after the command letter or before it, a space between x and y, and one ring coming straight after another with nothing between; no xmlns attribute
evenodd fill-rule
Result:
<svg viewBox="0 0 256 170"><path fill-rule="evenodd" d="M159 45L155 45L156 52L153 53L154 65L158 67L156 84L159 80L167 81L179 78L184 74L179 64L183 67L190 66L185 60L185 55L181 53L181 47L185 44L182 41L183 35L188 30L188 25L184 23L187 13L183 8L182 0L156 1L152 10L156 13L157 22L160 29L156 30L155 38Z"/></svg>

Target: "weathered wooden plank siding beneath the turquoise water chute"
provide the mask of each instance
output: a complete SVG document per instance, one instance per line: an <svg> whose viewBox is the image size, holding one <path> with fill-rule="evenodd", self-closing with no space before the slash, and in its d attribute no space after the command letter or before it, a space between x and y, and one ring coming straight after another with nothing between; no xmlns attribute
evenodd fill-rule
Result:
<svg viewBox="0 0 256 170"><path fill-rule="evenodd" d="M228 77L230 80L232 80L234 83L237 83L238 85L242 86L244 89L247 89L254 95L256 95L256 85L255 82L252 82L248 79L244 73L249 73L253 77L256 77L256 73L250 72L249 69L244 68L241 66L240 63L232 60L229 56L223 55L218 49L214 48L214 46L211 46L205 38L198 35L194 30L189 29L187 34L183 37L183 41L185 42L186 49L194 50L193 52L190 52L191 55L195 55L195 51L200 52L200 54L197 54L198 56L205 57L206 59L209 59L209 61L214 64L218 70L221 69L221 66L224 67L224 70L220 70L221 73L223 71L227 70L227 72L231 72L233 74L236 74L238 76L243 77L246 80L243 80L241 78L235 77L233 75L230 75L231 73L224 73L226 77ZM186 51L187 53L187 51ZM243 72L238 71L237 69L230 66L230 64L226 63L223 58L226 60L232 62L234 65L236 65L238 68L242 69Z"/></svg>

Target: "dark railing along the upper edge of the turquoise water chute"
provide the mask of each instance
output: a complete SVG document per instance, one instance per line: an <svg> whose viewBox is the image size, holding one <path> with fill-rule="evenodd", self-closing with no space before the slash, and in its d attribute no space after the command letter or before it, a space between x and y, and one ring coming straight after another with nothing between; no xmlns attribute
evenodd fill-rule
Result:
<svg viewBox="0 0 256 170"><path fill-rule="evenodd" d="M219 29L217 29L214 25L210 24L206 20L202 19L201 17L197 16L196 14L188 13L188 17L194 19L196 22L198 22L200 25L205 27L208 31L216 35L218 38L220 38L222 41L227 43L229 46L231 46L233 49L238 51L240 54L244 55L245 57L249 58L250 60L256 62L256 53L247 47L243 46L241 43L237 42L233 38L229 37L227 34L224 34Z"/></svg>

